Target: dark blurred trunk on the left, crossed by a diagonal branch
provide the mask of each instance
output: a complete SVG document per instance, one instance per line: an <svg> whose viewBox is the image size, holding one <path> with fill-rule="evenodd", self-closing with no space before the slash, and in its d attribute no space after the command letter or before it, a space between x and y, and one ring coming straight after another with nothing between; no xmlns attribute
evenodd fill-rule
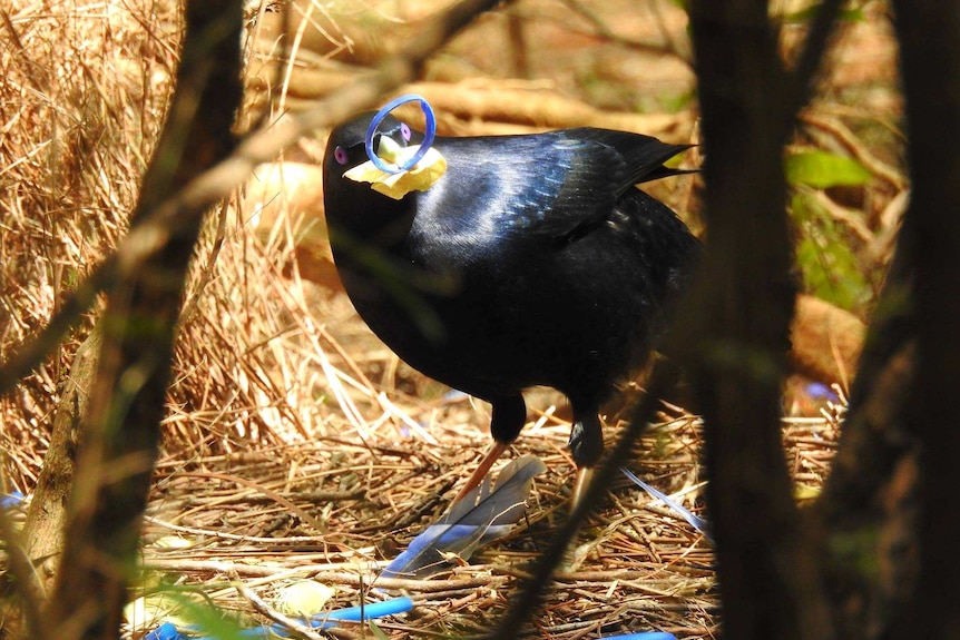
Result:
<svg viewBox="0 0 960 640"><path fill-rule="evenodd" d="M177 88L140 190L131 228L156 203L227 157L239 107L237 0L193 0ZM112 283L97 332L102 346L82 421L62 561L47 608L61 639L118 637L127 585L138 573L143 513L166 405L174 339L190 256L210 200L178 211L143 263ZM135 235L134 233L130 234ZM123 258L123 256L121 256ZM123 264L123 259L120 260Z"/></svg>

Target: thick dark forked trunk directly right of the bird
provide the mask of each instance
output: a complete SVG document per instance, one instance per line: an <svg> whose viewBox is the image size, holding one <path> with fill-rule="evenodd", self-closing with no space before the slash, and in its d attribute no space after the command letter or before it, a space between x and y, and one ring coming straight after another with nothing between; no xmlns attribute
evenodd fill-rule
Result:
<svg viewBox="0 0 960 640"><path fill-rule="evenodd" d="M814 541L783 456L780 394L795 299L783 148L829 32L821 9L797 71L780 56L766 2L695 0L709 250L685 341L705 423L707 500L724 633L833 637ZM685 314L686 315L686 314Z"/></svg>

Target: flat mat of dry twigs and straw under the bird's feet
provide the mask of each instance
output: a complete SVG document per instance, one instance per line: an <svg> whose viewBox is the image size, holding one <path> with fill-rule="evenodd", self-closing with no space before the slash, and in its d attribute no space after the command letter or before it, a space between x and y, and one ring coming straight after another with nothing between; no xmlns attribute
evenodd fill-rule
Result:
<svg viewBox="0 0 960 640"><path fill-rule="evenodd" d="M228 470L224 459L170 462L161 469L169 475L160 482L164 498L154 503L149 526L150 536L160 538L147 547L146 563L202 582L236 569L261 579L255 590L267 600L293 578L336 585L332 605L379 598L364 591L381 560L440 515L464 469L476 464L477 445L486 444L472 429L463 433L437 424L431 433L443 444L373 434L368 445L326 437L232 457ZM384 622L385 629L395 629L396 637L469 637L496 620L525 564L566 511L572 476L568 434L566 422L545 419L517 445L518 454L541 456L548 471L537 481L528 520L507 540L431 581L375 583L405 590L417 602L414 613L402 623ZM637 471L670 491L696 488L697 439L697 422L686 416L653 430L643 443L647 462ZM199 495L198 485L207 488ZM272 492L310 519L270 498ZM611 495L609 509L584 530L577 568L561 575L550 594L538 622L543 637L654 628L709 636L716 607L709 545L679 519L652 508L626 481ZM694 504L696 495L687 492L682 500ZM224 534L236 538L219 538ZM194 547L163 551L167 535ZM236 593L221 595L231 608L248 607Z"/></svg>

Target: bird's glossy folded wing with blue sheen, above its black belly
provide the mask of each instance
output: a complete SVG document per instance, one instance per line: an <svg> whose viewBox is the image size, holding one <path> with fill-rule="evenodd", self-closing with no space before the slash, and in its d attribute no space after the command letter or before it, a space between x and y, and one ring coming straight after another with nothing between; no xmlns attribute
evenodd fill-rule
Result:
<svg viewBox="0 0 960 640"><path fill-rule="evenodd" d="M676 173L663 163L687 147L581 128L445 138L438 148L448 175L423 208L443 211L444 232L472 244L511 232L529 240L574 239L601 224L626 189Z"/></svg>

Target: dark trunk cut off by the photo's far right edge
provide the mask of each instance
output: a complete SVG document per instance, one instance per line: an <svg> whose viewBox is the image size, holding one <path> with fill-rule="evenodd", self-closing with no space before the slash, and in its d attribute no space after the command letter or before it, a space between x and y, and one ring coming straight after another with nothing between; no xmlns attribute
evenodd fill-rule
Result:
<svg viewBox="0 0 960 640"><path fill-rule="evenodd" d="M919 567L912 602L892 638L960 634L960 154L944 142L960 127L960 6L935 0L894 0L900 41L913 190L902 243L914 265L918 328L917 395L908 407L909 431L921 451L919 469Z"/></svg>

